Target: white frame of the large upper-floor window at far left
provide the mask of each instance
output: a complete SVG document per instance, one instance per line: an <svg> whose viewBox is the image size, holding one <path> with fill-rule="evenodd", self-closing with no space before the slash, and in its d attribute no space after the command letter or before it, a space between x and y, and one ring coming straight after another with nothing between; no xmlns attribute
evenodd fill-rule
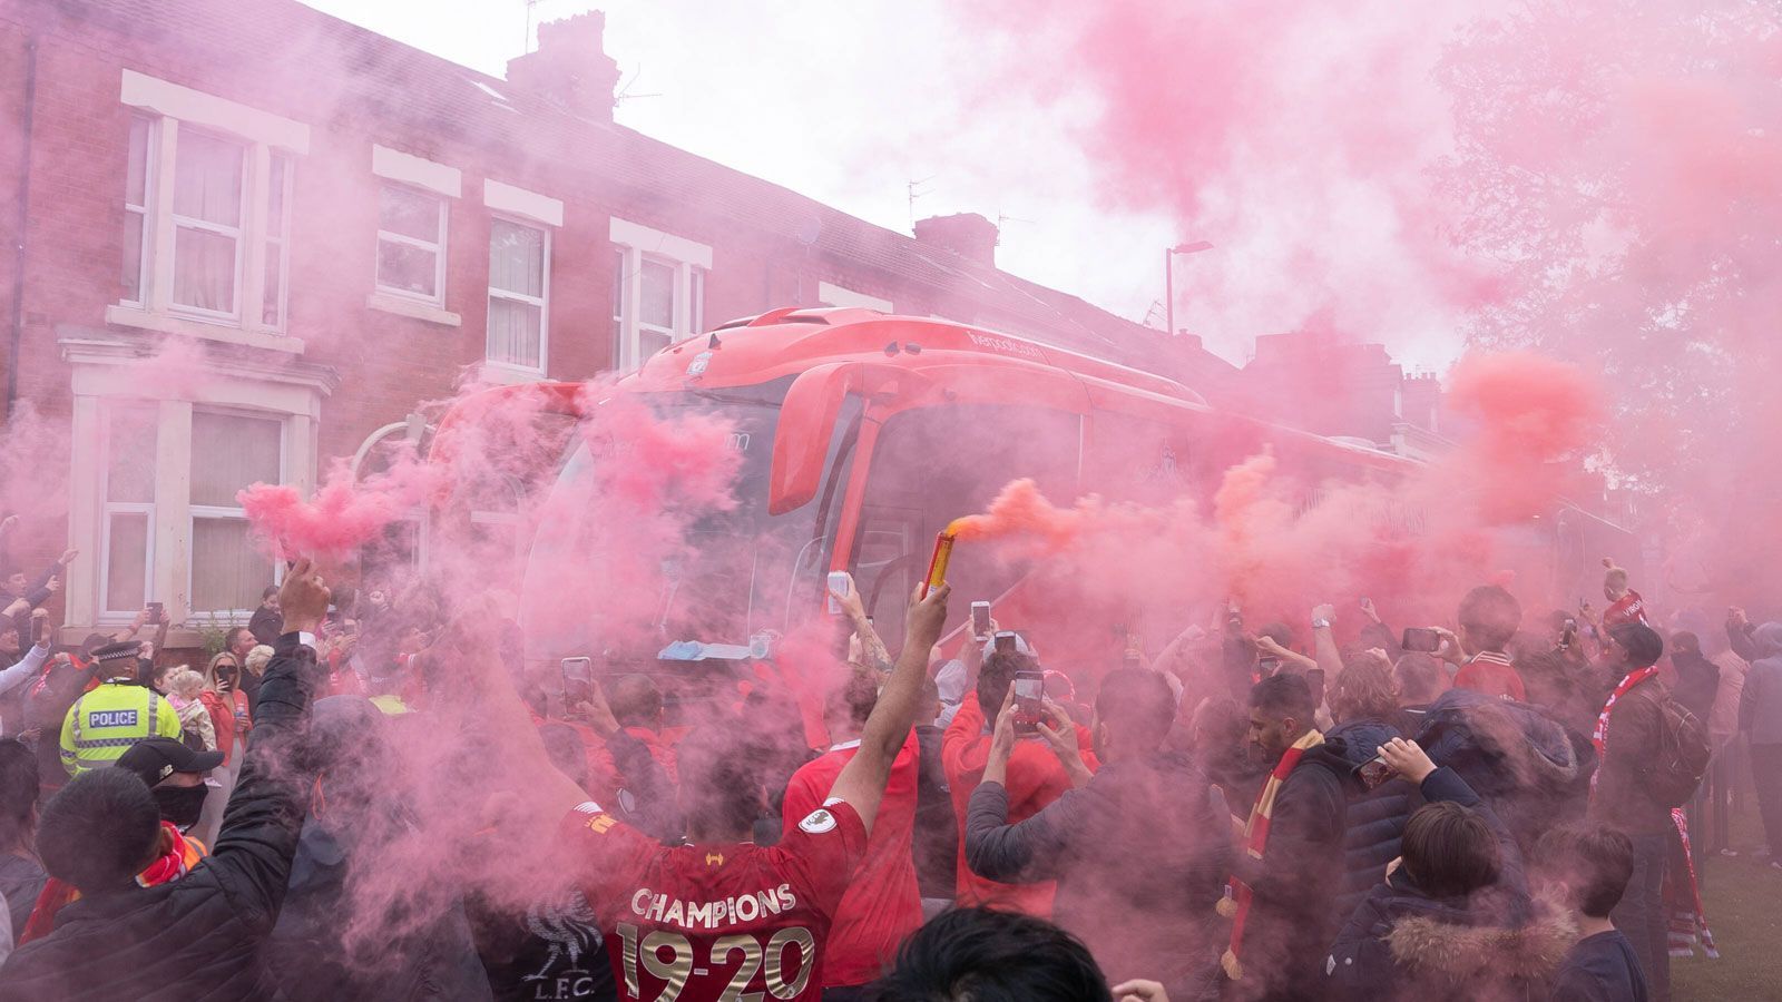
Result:
<svg viewBox="0 0 1782 1002"><path fill-rule="evenodd" d="M150 162L144 169L146 203L143 210L143 255L139 298L105 310L105 321L119 326L192 333L216 341L301 351L303 344L287 337L292 248L292 193L296 157L308 153L310 127L264 112L216 94L182 87L123 70L119 102L132 116L148 119ZM239 228L173 214L175 166L180 130L192 128L242 144L242 212ZM283 159L283 205L280 235L271 235L267 221L273 157ZM127 205L127 212L132 210ZM208 310L173 303L175 237L180 228L212 232L235 239L233 310ZM278 244L278 317L266 323L269 244Z"/></svg>

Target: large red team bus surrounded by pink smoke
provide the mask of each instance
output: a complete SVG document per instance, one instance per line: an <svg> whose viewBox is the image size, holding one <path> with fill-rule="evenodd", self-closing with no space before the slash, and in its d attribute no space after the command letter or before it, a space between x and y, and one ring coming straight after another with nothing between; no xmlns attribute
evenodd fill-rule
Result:
<svg viewBox="0 0 1782 1002"><path fill-rule="evenodd" d="M460 401L442 419L433 458L449 462L462 424L508 394L544 394L547 410L581 417L579 383L501 387ZM658 414L716 412L741 453L736 508L695 526L695 558L665 567L652 649L613 649L577 615L522 622L527 661L593 656L595 670L674 669L763 656L773 635L822 615L830 571L854 574L886 642L898 642L903 608L927 571L936 533L982 512L1012 480L1034 480L1059 505L1096 492L1167 505L1181 494L1203 508L1221 476L1263 448L1279 469L1319 483L1397 481L1413 460L1365 446L1222 414L1173 380L991 330L886 316L868 308L779 308L672 344L624 378ZM597 455L608 453L608 455ZM527 558L522 617L561 608L552 569L576 560L576 496L593 464L622 449L581 442L563 464L552 522ZM592 517L592 515L588 515ZM1420 515L1392 515L1415 535ZM1595 595L1602 554L1638 556L1631 537L1572 505L1499 533L1499 551L1536 569L1518 579L1561 601ZM1026 569L957 558L948 638L957 642L973 599L1035 635L1046 651L1057 610L1030 608ZM649 585L654 587L654 585ZM1575 599L1572 599L1575 601ZM1561 604L1561 608L1572 608ZM1529 610L1531 615L1538 608ZM659 640L659 644L656 644ZM1160 640L1160 638L1153 638ZM1051 649L1057 651L1059 644ZM895 653L895 651L893 651ZM654 661L654 663L650 663Z"/></svg>

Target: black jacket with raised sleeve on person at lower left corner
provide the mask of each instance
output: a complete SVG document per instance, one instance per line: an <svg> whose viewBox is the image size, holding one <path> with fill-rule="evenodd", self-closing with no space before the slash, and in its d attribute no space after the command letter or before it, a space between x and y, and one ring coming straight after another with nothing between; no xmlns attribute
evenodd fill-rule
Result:
<svg viewBox="0 0 1782 1002"><path fill-rule="evenodd" d="M80 899L0 968L0 1002L278 998L260 945L273 931L312 777L290 745L315 685L314 653L278 640L260 717L210 858L178 881Z"/></svg>

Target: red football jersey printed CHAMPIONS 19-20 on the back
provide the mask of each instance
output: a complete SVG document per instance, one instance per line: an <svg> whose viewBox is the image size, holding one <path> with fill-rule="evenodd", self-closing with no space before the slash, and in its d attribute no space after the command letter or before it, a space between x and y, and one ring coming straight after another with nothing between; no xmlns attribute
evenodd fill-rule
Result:
<svg viewBox="0 0 1782 1002"><path fill-rule="evenodd" d="M866 854L843 801L781 843L666 847L583 804L565 818L577 886L606 934L631 1002L816 1002L829 924Z"/></svg>

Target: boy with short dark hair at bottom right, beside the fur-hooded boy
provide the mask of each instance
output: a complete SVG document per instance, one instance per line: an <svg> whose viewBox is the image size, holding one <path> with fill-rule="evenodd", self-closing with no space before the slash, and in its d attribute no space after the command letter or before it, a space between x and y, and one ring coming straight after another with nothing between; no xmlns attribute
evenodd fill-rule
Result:
<svg viewBox="0 0 1782 1002"><path fill-rule="evenodd" d="M1552 1002L1647 1002L1634 945L1609 922L1634 875L1634 843L1609 827L1559 827L1541 836L1534 872L1582 936L1554 973Z"/></svg>

